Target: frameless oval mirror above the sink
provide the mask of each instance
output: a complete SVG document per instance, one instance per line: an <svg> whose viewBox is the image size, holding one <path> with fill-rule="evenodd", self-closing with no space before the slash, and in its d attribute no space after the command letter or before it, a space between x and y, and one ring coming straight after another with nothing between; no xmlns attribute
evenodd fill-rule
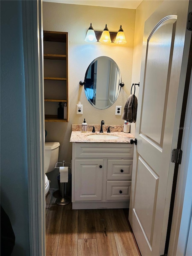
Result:
<svg viewBox="0 0 192 256"><path fill-rule="evenodd" d="M94 59L85 73L85 95L98 109L113 105L121 90L121 73L113 59L101 56Z"/></svg>

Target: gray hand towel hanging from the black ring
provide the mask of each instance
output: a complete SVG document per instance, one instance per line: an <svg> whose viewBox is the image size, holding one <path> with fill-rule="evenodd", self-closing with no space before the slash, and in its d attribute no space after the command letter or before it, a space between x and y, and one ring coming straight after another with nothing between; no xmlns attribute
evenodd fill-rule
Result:
<svg viewBox="0 0 192 256"><path fill-rule="evenodd" d="M130 123L136 122L136 119L137 119L137 97L134 94L131 94L125 103L122 119L128 120Z"/></svg>

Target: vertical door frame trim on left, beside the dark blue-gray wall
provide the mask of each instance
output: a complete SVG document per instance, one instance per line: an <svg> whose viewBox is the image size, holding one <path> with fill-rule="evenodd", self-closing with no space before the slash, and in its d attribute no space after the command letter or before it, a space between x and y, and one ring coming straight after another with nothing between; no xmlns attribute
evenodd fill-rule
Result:
<svg viewBox="0 0 192 256"><path fill-rule="evenodd" d="M22 1L30 255L46 255L42 17L42 1Z"/></svg>

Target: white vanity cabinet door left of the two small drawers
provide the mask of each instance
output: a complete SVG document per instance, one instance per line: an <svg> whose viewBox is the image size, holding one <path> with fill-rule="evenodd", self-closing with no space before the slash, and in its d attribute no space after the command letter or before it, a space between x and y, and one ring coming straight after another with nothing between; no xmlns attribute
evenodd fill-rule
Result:
<svg viewBox="0 0 192 256"><path fill-rule="evenodd" d="M102 200L103 159L75 160L75 201Z"/></svg>

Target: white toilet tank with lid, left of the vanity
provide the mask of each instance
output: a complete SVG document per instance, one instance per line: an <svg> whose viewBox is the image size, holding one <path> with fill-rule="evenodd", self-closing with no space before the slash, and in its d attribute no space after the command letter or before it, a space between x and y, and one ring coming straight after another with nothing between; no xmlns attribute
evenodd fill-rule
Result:
<svg viewBox="0 0 192 256"><path fill-rule="evenodd" d="M58 162L59 146L59 142L45 142L45 173L54 170Z"/></svg>

